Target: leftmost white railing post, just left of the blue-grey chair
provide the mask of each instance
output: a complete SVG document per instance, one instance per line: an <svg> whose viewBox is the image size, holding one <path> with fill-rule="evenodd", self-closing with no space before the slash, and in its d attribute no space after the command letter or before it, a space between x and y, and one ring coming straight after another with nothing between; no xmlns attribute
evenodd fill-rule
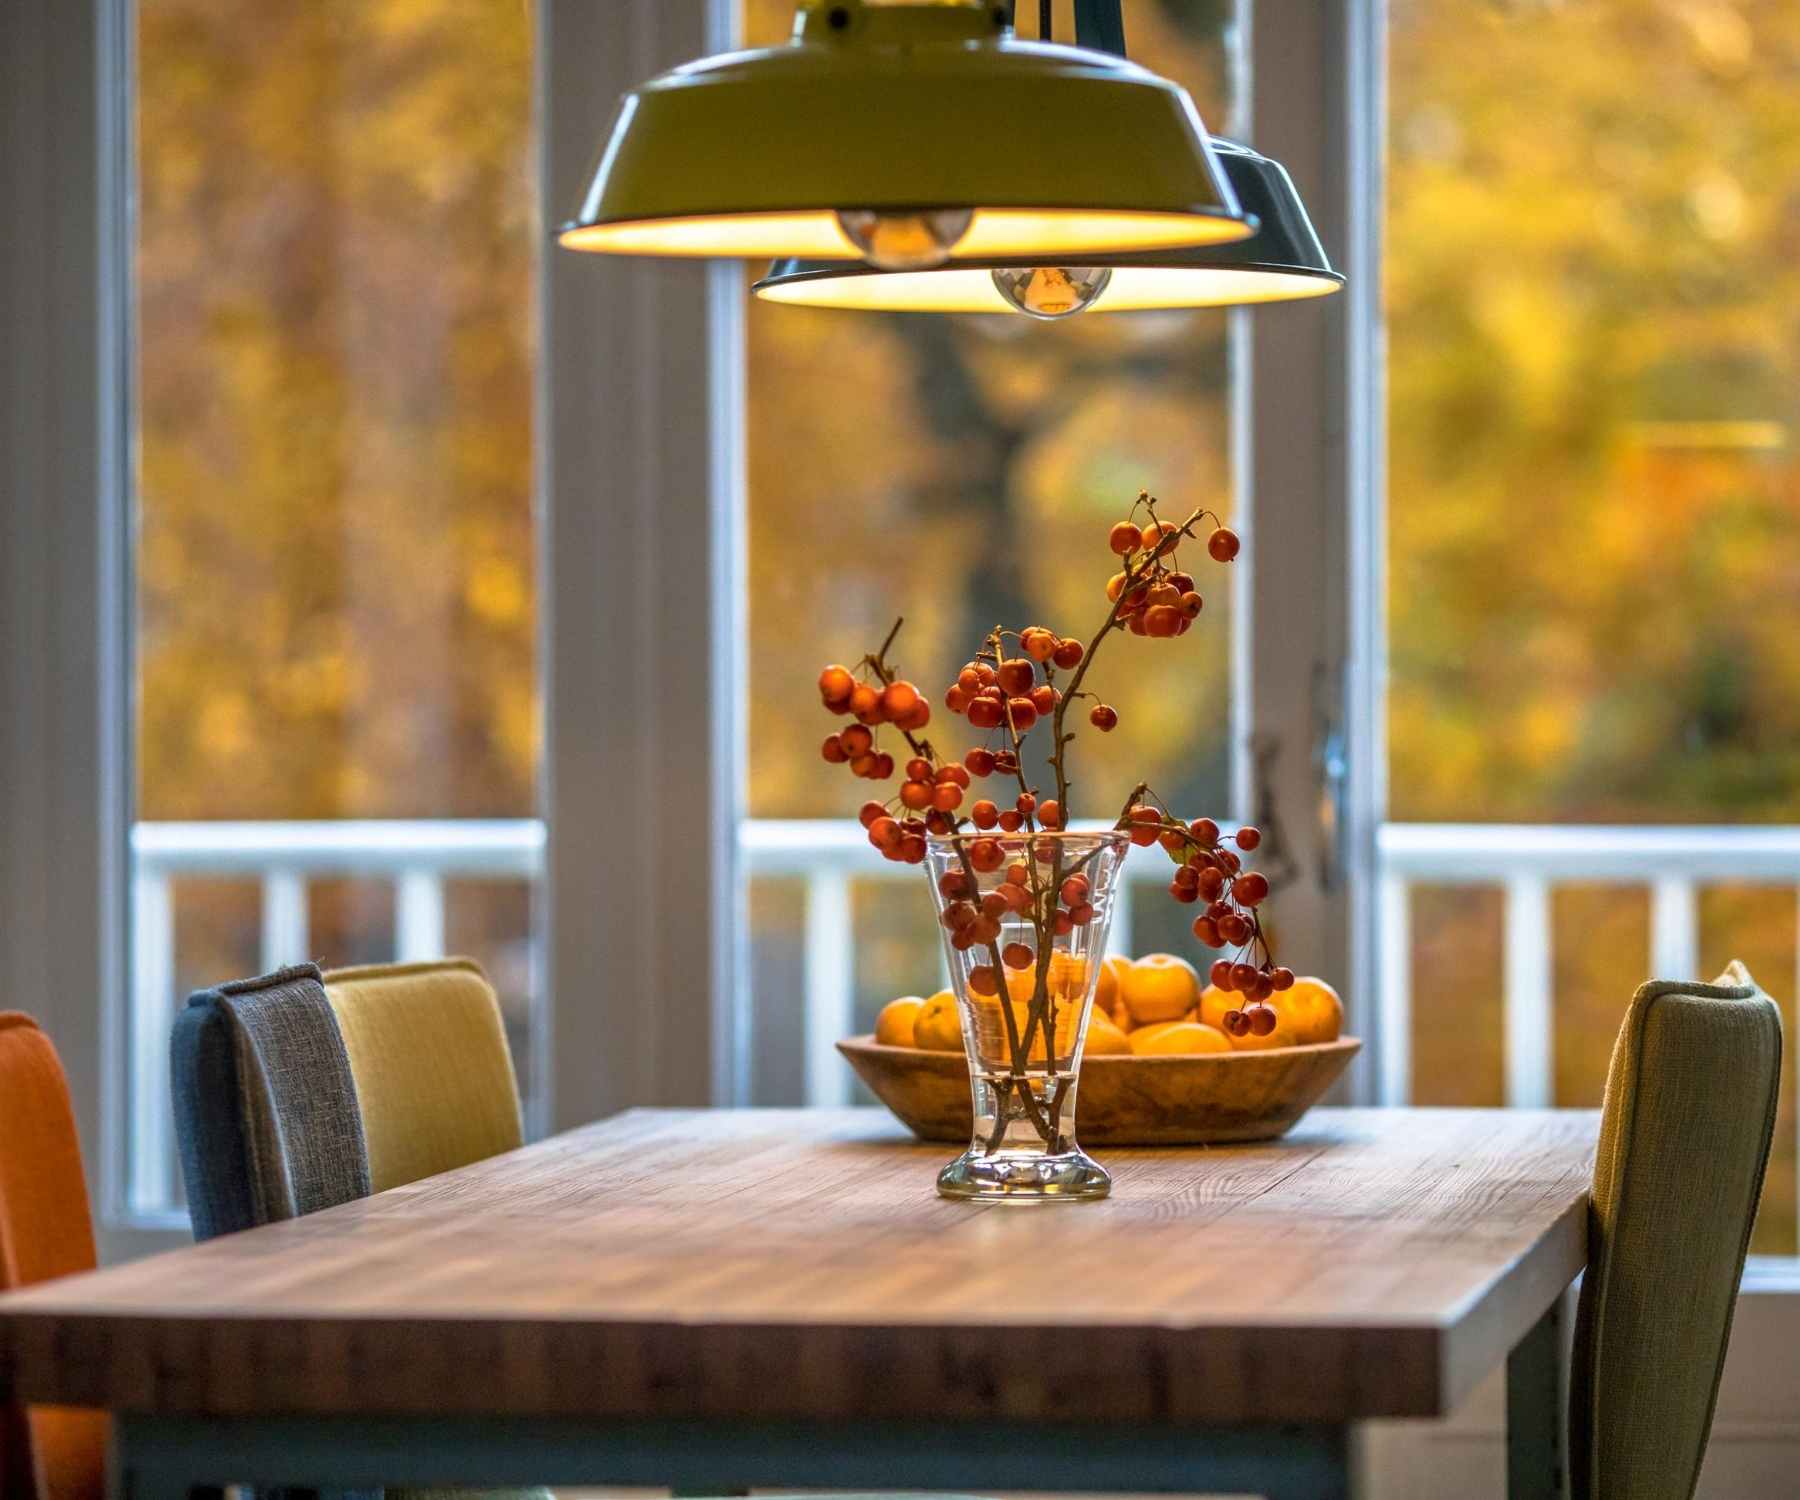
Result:
<svg viewBox="0 0 1800 1500"><path fill-rule="evenodd" d="M175 1010L175 902L169 877L131 873L131 1143L126 1196L133 1210L175 1197L169 1104L169 1026Z"/></svg>

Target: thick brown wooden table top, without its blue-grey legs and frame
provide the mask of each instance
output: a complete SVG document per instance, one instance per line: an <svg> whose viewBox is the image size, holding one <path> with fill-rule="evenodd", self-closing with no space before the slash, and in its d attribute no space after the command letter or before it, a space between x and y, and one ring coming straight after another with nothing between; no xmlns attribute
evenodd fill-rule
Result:
<svg viewBox="0 0 1800 1500"><path fill-rule="evenodd" d="M1438 1415L1586 1262L1597 1116L1314 1109L949 1203L877 1111L634 1111L0 1298L0 1388L187 1414Z"/></svg>

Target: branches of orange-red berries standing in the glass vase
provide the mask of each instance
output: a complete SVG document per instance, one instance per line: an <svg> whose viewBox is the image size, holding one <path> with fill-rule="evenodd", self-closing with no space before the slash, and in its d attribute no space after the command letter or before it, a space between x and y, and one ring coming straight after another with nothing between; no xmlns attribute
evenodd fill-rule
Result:
<svg viewBox="0 0 1800 1500"><path fill-rule="evenodd" d="M1067 996L1058 996L1051 971L1058 942L1067 945L1071 935L1096 917L1100 891L1091 866L1103 845L1075 857L1066 868L1071 843L1062 830L1073 787L1067 753L1076 740L1066 724L1069 704L1094 697L1085 688L1087 675L1114 632L1174 639L1199 619L1204 600L1193 574L1179 567L1179 549L1183 542L1197 540L1202 524L1211 528L1204 544L1208 556L1217 564L1233 562L1238 538L1211 510L1199 506L1184 520L1168 522L1159 517L1156 497L1141 490L1127 519L1109 533L1107 544L1121 560L1121 569L1107 582L1105 619L1085 645L1042 625L1017 632L995 625L943 693L943 706L965 717L970 729L983 736L961 760L943 758L923 738L920 731L931 722L931 702L889 661L904 619L895 621L880 648L864 655L855 672L828 666L819 673L824 708L855 720L824 740L826 762L846 764L868 780L889 780L895 758L875 744L882 726L893 726L909 751L898 794L862 805L860 819L869 843L884 857L909 864L923 863L931 837L954 854L954 863L938 877L941 922L952 953L974 949L986 958L967 967L965 985L972 1005L995 1003L1006 1044L1004 1071L990 1079L997 1097L990 1149L1004 1136L1008 1118L1030 1120L1051 1147L1062 1142L1062 1109L1080 1055L1080 1037L1066 1041L1067 1057L1057 1052L1057 1001ZM1006 655L1013 645L1019 654ZM1058 672L1069 673L1064 686L1058 686ZM1094 699L1087 722L1100 733L1111 733L1120 717L1111 704ZM1026 742L1039 724L1049 735L1046 762L1057 789L1049 800L1039 800L1024 774ZM995 735L1001 736L999 747L992 744ZM977 798L965 816L961 807L974 780L994 774L1017 783L1012 805L1001 809L992 798ZM1224 836L1211 818L1183 821L1141 782L1112 827L1136 846L1159 843L1168 852L1175 861L1170 895L1177 902L1206 902L1193 920L1193 935L1224 951L1213 962L1210 978L1242 998L1237 1008L1226 1012L1226 1028L1237 1035L1269 1034L1274 1012L1265 1001L1292 985L1294 976L1276 967L1262 926L1260 906L1269 895L1269 881L1246 870L1242 861L1262 843L1262 834L1246 825ZM1003 947L1006 920L1015 924L1015 931L1022 922L1026 931ZM1015 996L1012 985L1026 971L1033 971L1028 999ZM1085 976L1084 983L1091 990L1093 976ZM1078 998L1085 999L1085 992ZM1021 1001L1022 1025L1015 1014ZM1039 1044L1044 1057L1033 1070L1031 1053Z"/></svg>

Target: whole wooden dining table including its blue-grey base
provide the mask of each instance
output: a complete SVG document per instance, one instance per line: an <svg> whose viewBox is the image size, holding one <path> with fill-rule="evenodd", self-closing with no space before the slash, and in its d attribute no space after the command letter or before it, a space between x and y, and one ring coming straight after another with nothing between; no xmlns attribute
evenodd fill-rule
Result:
<svg viewBox="0 0 1800 1500"><path fill-rule="evenodd" d="M1350 1493L1357 1424L1507 1365L1559 1477L1597 1116L1314 1109L1100 1152L1100 1203L934 1194L877 1111L632 1111L0 1298L0 1390L191 1486Z"/></svg>

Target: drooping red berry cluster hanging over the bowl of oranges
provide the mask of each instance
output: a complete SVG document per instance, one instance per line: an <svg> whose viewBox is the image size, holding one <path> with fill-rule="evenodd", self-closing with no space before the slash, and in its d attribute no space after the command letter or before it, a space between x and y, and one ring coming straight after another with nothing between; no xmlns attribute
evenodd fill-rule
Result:
<svg viewBox="0 0 1800 1500"><path fill-rule="evenodd" d="M1226 1012L1226 1030L1233 1035L1269 1035L1274 1010L1265 1001L1276 990L1292 989L1294 971L1269 960L1256 915L1256 908L1269 899L1269 877L1246 870L1242 861L1242 854L1262 843L1262 830L1246 823L1231 836L1237 845L1231 850L1211 818L1181 823L1154 807L1138 805L1125 819L1134 845L1148 848L1159 843L1175 861L1168 893L1183 904L1206 902L1206 909L1193 918L1193 936L1208 947L1237 949L1235 958L1215 960L1208 976L1215 987L1246 999L1246 1005ZM1260 963L1253 962L1258 949Z"/></svg>

